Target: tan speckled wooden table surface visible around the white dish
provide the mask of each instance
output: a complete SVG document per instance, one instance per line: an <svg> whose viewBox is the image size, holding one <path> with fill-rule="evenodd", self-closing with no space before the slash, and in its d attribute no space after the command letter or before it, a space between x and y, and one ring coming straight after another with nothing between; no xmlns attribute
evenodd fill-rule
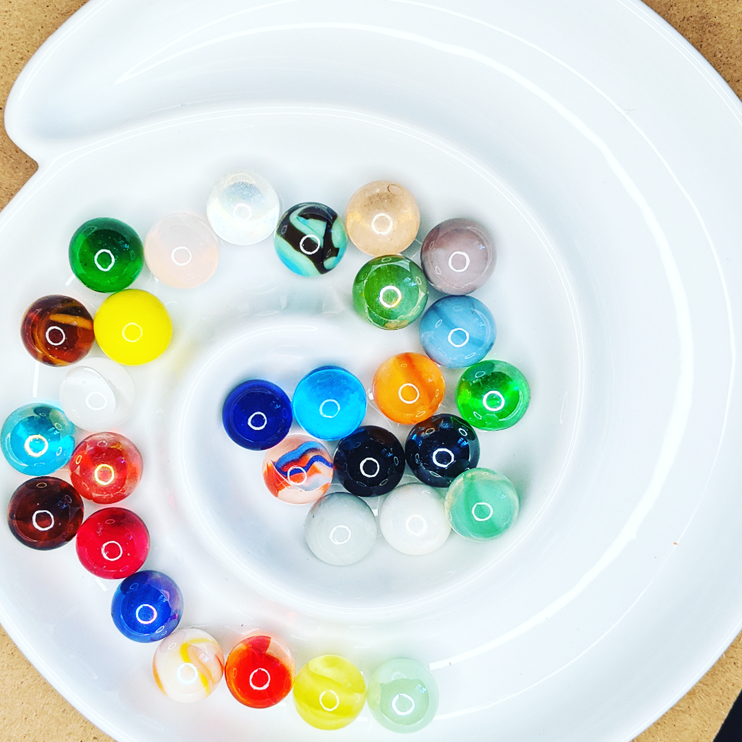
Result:
<svg viewBox="0 0 742 742"><path fill-rule="evenodd" d="M559 0L554 0L559 1ZM596 0L598 1L598 0ZM0 0L0 110L27 60L83 0ZM742 0L649 0L742 96ZM0 131L0 208L36 170ZM637 742L711 742L742 689L742 634ZM36 672L0 628L0 740L109 742Z"/></svg>

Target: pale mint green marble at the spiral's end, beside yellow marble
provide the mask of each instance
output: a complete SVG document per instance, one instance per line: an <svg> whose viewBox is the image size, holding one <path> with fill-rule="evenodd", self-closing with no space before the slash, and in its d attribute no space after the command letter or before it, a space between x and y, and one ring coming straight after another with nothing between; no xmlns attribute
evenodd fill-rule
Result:
<svg viewBox="0 0 742 742"><path fill-rule="evenodd" d="M438 711L438 683L416 660L387 660L371 675L366 700L381 726L393 732L417 732Z"/></svg>

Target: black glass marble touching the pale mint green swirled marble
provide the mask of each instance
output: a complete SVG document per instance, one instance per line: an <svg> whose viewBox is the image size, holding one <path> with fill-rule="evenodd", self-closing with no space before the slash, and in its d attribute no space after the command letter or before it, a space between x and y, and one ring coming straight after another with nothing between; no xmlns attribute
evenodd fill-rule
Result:
<svg viewBox="0 0 742 742"><path fill-rule="evenodd" d="M479 463L479 439L462 418L433 415L407 434L404 456L421 482L447 487L462 471Z"/></svg>

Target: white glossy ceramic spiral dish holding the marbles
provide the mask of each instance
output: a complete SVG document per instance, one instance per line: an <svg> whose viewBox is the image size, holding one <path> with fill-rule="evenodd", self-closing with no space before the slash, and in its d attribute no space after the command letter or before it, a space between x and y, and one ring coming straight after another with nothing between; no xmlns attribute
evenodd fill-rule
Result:
<svg viewBox="0 0 742 742"><path fill-rule="evenodd" d="M199 289L137 280L177 332L133 370L122 432L145 478L125 504L151 529L147 566L183 589L183 626L225 649L264 628L299 665L335 652L368 673L416 657L441 692L421 740L628 741L741 627L741 124L729 88L637 1L92 0L7 107L40 166L0 217L1 410L55 398L65 373L24 351L27 305L102 301L67 263L88 218L144 234L164 214L203 213L211 183L248 167L284 206L342 211L358 185L390 177L418 197L421 234L481 220L499 248L476 292L498 322L493 355L533 391L521 423L482 435L482 464L522 492L499 542L452 537L416 558L380 539L330 568L303 545L306 508L264 496L260 455L220 430L240 378L290 393L331 361L370 384L384 358L419 349L416 327L353 314L352 249L318 280L289 275L269 243L223 246ZM21 481L0 467L4 502ZM37 553L0 528L3 626L117 740L327 734L290 697L255 711L223 684L194 706L162 696L154 646L111 623L113 589L71 546ZM391 734L364 710L332 736Z"/></svg>

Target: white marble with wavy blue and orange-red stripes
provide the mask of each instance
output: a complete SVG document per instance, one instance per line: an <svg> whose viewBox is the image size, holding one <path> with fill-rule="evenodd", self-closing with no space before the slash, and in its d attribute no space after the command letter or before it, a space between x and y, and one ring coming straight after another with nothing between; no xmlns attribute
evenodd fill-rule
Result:
<svg viewBox="0 0 742 742"><path fill-rule="evenodd" d="M292 505L315 502L332 483L332 456L318 441L286 436L263 459L263 482L269 492Z"/></svg>

